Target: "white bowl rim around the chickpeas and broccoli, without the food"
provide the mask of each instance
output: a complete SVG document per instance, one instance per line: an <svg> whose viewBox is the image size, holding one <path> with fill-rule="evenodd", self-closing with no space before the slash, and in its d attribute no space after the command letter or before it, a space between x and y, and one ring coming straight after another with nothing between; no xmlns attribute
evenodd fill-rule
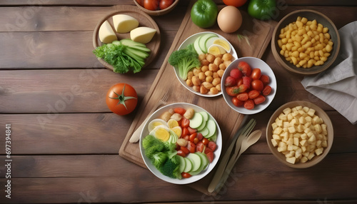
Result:
<svg viewBox="0 0 357 204"><path fill-rule="evenodd" d="M199 37L199 36L202 36L204 34L216 34L216 33L213 33L213 32L209 32L209 31L206 31L206 32L201 32L201 33L197 33L197 34L193 34L192 36L189 36L185 41L183 41L183 43L181 44L181 46L178 47L178 50L181 50L181 49L184 49L186 48L186 46L188 46L189 44L193 44L193 42ZM221 39L225 39L223 36L221 36L220 34L216 34L218 36L218 38L221 38ZM225 39L226 41L228 41L227 39ZM228 41L228 44L229 46L231 46L231 51L229 53L231 53L231 55L233 56L233 59L236 59L238 58L237 56L237 53L236 53L236 50L233 48L232 44ZM233 61L233 60L232 60ZM211 94L211 93L206 93L206 94L202 94L202 93L199 93L197 91L194 91L192 86L188 86L186 81L181 79L180 76L178 76L178 68L174 67L174 70L175 70L175 73L176 73L176 77L178 79L178 81L181 82L182 86L184 86L185 88L187 88L189 91L191 91L192 93L195 93L197 94L198 96L204 96L204 97L214 97L214 96L219 96L222 94L222 91L219 91L218 93L216 94Z"/></svg>

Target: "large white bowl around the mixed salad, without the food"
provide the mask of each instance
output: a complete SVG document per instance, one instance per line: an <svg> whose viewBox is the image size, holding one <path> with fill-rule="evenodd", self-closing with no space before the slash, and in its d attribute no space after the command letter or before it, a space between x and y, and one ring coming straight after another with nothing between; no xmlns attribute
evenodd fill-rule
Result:
<svg viewBox="0 0 357 204"><path fill-rule="evenodd" d="M160 178L161 180L165 180L166 182L169 183L175 183L175 184L187 184L187 183L193 183L197 180L200 180L201 178L205 177L208 173L211 172L211 170L214 168L214 166L218 163L218 158L221 155L221 151L222 151L222 134L221 134L221 129L218 126L217 121L213 118L213 116L208 113L208 116L210 116L211 118L213 118L213 121L216 123L216 131L217 131L217 140L216 140L216 145L217 148L215 151L213 151L214 153L214 158L212 163L209 163L208 167L205 170L202 170L201 173L199 173L198 175L193 175L190 178L182 178L180 179L175 179L175 178L169 178L166 175L163 175L159 170L157 170L155 168L155 166L151 163L151 160L149 158L146 157L145 153L144 153L144 148L141 144L142 140L149 135L149 131L148 131L148 125L150 123L150 121L152 121L155 118L159 118L159 116L161 116L162 113L168 111L170 108L176 108L176 107L181 107L181 108L193 108L193 110L195 111L206 111L203 108L193 105L191 103L171 103L167 106L163 106L161 108L159 108L157 111L155 111L150 117L149 120L145 123L143 130L141 131L141 136L140 136L140 153L141 153L141 157L144 160L144 163L146 165L147 168L149 168L149 170L151 171L151 173L154 173L154 175L156 175L156 177Z"/></svg>

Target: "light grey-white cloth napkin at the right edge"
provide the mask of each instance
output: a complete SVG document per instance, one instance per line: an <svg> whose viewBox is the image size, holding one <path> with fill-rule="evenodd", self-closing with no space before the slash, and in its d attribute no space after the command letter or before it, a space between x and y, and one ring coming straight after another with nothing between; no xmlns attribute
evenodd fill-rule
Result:
<svg viewBox="0 0 357 204"><path fill-rule="evenodd" d="M306 91L336 109L353 124L357 123L357 21L338 30L341 47L338 58L326 71L305 76Z"/></svg>

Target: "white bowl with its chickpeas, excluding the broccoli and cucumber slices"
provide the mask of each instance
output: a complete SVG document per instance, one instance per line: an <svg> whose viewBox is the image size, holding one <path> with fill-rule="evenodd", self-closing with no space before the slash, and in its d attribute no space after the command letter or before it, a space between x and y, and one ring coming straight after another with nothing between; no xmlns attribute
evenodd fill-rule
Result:
<svg viewBox="0 0 357 204"><path fill-rule="evenodd" d="M194 44L196 39L207 34L214 34L216 35L215 38L226 41L226 43L230 46L230 50L227 53L221 54L211 54L208 52L198 54L201 66L188 71L186 79L179 76L178 68L174 67L174 71L178 81L180 81L182 86L187 88L188 91L191 91L198 96L215 97L222 94L221 78L224 70L229 66L229 64L231 64L232 61L238 58L231 43L219 34L206 31L189 36L185 41L183 41L181 46L178 47L178 50L186 49L188 45Z"/></svg>

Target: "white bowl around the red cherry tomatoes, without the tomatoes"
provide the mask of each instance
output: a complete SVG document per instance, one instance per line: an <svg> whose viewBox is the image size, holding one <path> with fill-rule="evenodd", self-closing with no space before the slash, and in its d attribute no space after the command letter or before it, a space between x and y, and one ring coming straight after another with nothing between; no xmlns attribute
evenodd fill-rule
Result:
<svg viewBox="0 0 357 204"><path fill-rule="evenodd" d="M268 96L266 96L266 101L256 105L252 110L248 110L248 109L244 108L243 106L242 107L234 106L234 104L232 103L232 100L231 100L231 98L233 96L229 96L227 94L226 87L223 84L224 81L226 81L227 76L229 76L229 73L231 72L231 70L233 68L238 67L238 63L240 61L245 61L246 63L248 63L251 66L252 69L260 68L261 74L268 75L270 78L270 83L268 85L271 86L271 93ZM224 101L226 101L228 106L230 106L234 111L237 111L238 113L242 113L242 114L246 114L246 115L251 115L251 114L255 114L255 113L259 113L259 112L263 111L266 107L269 106L271 101L273 101L273 98L276 94L276 78L273 73L273 70L271 70L270 66L268 66L267 63L262 61L260 58L255 58L255 57L247 56L247 57L238 58L235 61L233 61L226 68L226 71L224 71L224 73L223 73L222 80L221 80L221 86L222 86L222 93L223 93Z"/></svg>

